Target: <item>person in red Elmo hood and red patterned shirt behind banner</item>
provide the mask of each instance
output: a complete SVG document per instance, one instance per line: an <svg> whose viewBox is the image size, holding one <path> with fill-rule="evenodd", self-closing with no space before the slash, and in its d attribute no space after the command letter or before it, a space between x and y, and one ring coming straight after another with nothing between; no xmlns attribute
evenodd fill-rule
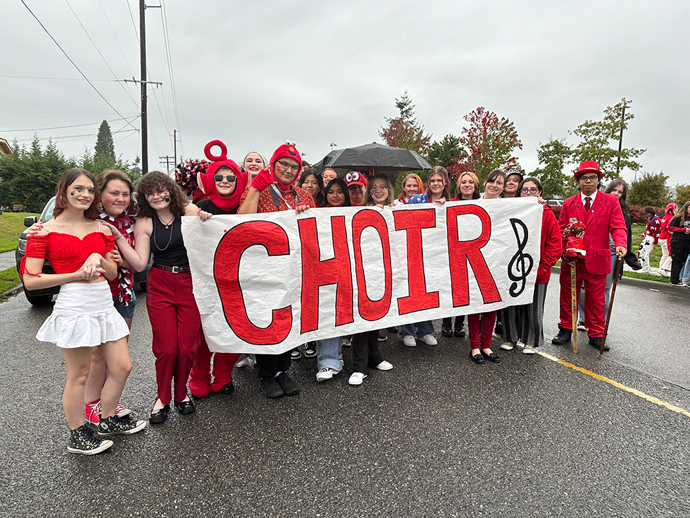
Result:
<svg viewBox="0 0 690 518"><path fill-rule="evenodd" d="M297 173L302 169L302 157L294 142L279 146L270 157L268 169L259 171L249 189L242 193L238 214L290 211L297 214L316 207L311 194L295 186ZM259 383L267 398L295 396L299 387L287 370L290 351L281 354L257 354Z"/></svg>

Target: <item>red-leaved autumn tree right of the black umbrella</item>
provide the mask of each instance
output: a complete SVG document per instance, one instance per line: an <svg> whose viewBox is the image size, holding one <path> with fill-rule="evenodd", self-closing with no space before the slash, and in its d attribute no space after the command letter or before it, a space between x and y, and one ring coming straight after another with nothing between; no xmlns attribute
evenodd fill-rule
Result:
<svg viewBox="0 0 690 518"><path fill-rule="evenodd" d="M523 172L517 157L513 156L515 149L522 149L522 142L509 119L499 118L484 106L471 111L464 119L469 127L462 128L462 151L453 160L455 165L448 168L451 177L457 178L462 171L474 171L483 184L486 175L494 169Z"/></svg>

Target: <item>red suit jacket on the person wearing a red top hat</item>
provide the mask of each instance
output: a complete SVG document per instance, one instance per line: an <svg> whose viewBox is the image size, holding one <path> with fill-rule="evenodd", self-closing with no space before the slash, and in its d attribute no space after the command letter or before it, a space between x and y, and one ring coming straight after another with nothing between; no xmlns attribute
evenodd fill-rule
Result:
<svg viewBox="0 0 690 518"><path fill-rule="evenodd" d="M584 213L580 193L563 202L558 224L561 232L565 230L570 218L584 222L584 267L593 275L611 273L611 244L609 233L613 236L616 247L627 247L628 231L620 210L618 198L613 194L599 191L589 213ZM565 249L566 239L563 240Z"/></svg>

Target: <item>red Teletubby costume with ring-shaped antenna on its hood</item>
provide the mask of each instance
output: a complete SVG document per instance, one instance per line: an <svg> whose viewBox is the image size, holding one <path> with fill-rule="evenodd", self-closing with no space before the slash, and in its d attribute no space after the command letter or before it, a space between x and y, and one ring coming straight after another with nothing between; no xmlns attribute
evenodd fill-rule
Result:
<svg viewBox="0 0 690 518"><path fill-rule="evenodd" d="M211 154L210 150L213 146L221 148L221 154L215 156ZM242 173L239 166L228 159L228 148L220 140L212 140L204 147L204 154L206 158L211 161L206 166L206 171L200 172L198 175L201 189L208 195L208 200L212 202L217 211L210 211L211 213L227 213L234 214L239 207L239 200L242 197L244 189L246 189L248 177L247 173ZM222 197L215 185L213 175L221 167L228 167L235 174L235 192L228 196ZM203 334L201 336L201 344L197 349L197 357L194 360L192 372L189 378L189 390L195 398L202 398L208 396L210 392L220 392L221 394L230 394L235 390L233 385L233 367L239 358L236 353L210 352L208 344ZM213 357L213 372L211 371L211 358ZM211 376L213 375L213 383L211 383Z"/></svg>

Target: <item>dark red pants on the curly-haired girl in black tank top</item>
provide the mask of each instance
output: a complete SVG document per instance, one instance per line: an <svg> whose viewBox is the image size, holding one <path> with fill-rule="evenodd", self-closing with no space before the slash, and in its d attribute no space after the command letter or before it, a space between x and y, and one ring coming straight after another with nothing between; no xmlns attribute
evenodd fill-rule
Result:
<svg viewBox="0 0 690 518"><path fill-rule="evenodd" d="M146 309L153 332L158 397L164 405L170 403L170 381L174 378L175 401L184 401L187 378L201 340L192 274L152 268L146 280Z"/></svg>

